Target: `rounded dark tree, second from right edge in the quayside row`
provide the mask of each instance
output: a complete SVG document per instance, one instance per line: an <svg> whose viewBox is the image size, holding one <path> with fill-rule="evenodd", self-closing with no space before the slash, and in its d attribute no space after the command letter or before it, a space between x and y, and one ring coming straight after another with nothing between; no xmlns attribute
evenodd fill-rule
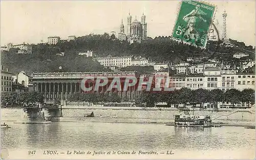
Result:
<svg viewBox="0 0 256 160"><path fill-rule="evenodd" d="M224 101L234 104L241 102L241 92L238 89L229 89L224 94Z"/></svg>

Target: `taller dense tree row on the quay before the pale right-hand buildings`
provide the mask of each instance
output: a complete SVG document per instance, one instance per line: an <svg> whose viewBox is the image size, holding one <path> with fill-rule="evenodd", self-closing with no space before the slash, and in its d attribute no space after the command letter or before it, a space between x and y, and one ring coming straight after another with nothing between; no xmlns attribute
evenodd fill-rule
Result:
<svg viewBox="0 0 256 160"><path fill-rule="evenodd" d="M246 102L247 104L254 104L254 90L244 89L242 92L238 89L229 89L225 93L220 89L206 90L199 88L192 90L190 88L181 88L174 90L174 92L142 92L137 97L137 103L146 103L147 106L154 106L157 102L165 102L167 106L172 104L183 104L185 107L189 104L212 103L217 106L218 102L234 104Z"/></svg>

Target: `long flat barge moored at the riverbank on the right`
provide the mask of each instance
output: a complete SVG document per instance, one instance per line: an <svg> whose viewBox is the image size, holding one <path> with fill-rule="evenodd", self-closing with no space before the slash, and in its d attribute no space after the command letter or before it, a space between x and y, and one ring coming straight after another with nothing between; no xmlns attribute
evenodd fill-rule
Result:
<svg viewBox="0 0 256 160"><path fill-rule="evenodd" d="M211 127L209 116L175 115L175 126L180 127Z"/></svg>

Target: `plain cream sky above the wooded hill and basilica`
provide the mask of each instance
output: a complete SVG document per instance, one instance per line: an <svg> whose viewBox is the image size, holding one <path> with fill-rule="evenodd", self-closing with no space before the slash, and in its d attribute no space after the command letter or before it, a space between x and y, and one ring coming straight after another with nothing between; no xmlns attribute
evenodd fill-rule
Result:
<svg viewBox="0 0 256 160"><path fill-rule="evenodd" d="M222 35L222 13L227 15L227 37L255 46L255 1L207 1L216 6L215 25ZM130 11L140 21L146 15L147 36L172 35L180 1L1 1L1 46L9 42L47 42L48 36L83 36L127 30Z"/></svg>

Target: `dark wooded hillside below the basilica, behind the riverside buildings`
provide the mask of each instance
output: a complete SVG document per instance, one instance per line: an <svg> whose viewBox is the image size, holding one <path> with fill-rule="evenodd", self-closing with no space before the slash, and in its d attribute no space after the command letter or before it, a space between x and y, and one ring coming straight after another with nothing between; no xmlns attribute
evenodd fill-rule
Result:
<svg viewBox="0 0 256 160"><path fill-rule="evenodd" d="M112 37L113 38L113 37ZM32 44L32 55L18 55L15 49L9 52L1 52L1 65L9 68L9 71L17 73L20 71L33 72L84 72L84 71L110 71L104 69L92 58L78 57L79 52L93 50L98 57L107 56L145 56L157 62L181 62L187 57L208 56L219 57L223 60L232 60L232 54L246 48L244 43L237 42L240 48L225 48L219 42L209 41L206 49L194 47L182 42L174 41L170 37L148 38L142 43L129 44L112 39L108 34L86 35L77 37L75 41L61 41L56 45ZM252 47L247 50L253 51ZM65 56L55 55L65 52ZM254 59L253 52L250 58ZM59 66L62 67L59 70ZM124 71L124 70L122 70ZM148 70L148 71L151 71Z"/></svg>

